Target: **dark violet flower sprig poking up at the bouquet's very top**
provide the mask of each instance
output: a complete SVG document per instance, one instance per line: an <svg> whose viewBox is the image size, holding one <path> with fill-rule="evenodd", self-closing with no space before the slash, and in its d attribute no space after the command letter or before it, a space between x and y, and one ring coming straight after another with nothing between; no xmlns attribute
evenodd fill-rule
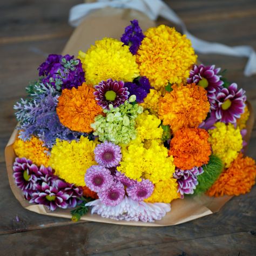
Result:
<svg viewBox="0 0 256 256"><path fill-rule="evenodd" d="M139 26L137 19L131 21L131 25L126 26L125 31L121 37L121 41L125 45L130 45L130 52L136 55L140 44L142 44L144 34Z"/></svg>

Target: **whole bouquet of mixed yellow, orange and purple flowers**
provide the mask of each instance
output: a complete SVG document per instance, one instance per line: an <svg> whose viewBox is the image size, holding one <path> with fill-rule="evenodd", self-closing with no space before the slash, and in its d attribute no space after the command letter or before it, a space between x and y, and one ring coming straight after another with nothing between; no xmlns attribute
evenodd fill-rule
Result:
<svg viewBox="0 0 256 256"><path fill-rule="evenodd" d="M133 20L120 40L100 39L77 58L49 55L38 71L6 147L12 190L29 210L174 225L254 185L245 91L198 65L174 28L143 32Z"/></svg>

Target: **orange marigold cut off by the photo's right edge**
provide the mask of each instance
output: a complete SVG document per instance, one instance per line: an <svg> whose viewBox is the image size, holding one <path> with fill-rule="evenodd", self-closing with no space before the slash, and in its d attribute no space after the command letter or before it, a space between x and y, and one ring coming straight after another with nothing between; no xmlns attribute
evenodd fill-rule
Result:
<svg viewBox="0 0 256 256"><path fill-rule="evenodd" d="M230 167L220 174L207 194L211 197L221 197L224 194L239 196L239 194L250 192L255 184L255 178L255 161L251 157L243 157L240 153Z"/></svg>

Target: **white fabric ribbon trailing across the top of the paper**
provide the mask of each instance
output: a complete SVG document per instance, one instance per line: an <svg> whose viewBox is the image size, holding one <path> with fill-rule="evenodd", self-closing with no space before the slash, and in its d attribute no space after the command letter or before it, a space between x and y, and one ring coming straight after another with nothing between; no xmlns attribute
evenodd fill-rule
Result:
<svg viewBox="0 0 256 256"><path fill-rule="evenodd" d="M181 26L183 33L191 40L195 51L199 53L217 53L221 55L247 57L248 62L244 70L245 76L251 76L256 73L256 53L251 46L227 46L207 42L191 35L179 16L161 0L98 0L98 2L95 3L78 4L73 6L70 10L69 23L72 26L78 26L86 15L107 6L112 8L134 9L143 12L152 20L156 20L158 16L161 16Z"/></svg>

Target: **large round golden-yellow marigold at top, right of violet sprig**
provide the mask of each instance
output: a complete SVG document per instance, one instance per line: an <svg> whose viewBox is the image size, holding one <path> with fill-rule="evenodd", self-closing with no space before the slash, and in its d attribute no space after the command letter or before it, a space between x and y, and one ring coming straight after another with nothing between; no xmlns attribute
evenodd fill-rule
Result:
<svg viewBox="0 0 256 256"><path fill-rule="evenodd" d="M156 89L185 82L196 60L190 40L166 25L148 29L137 52L140 75Z"/></svg>

